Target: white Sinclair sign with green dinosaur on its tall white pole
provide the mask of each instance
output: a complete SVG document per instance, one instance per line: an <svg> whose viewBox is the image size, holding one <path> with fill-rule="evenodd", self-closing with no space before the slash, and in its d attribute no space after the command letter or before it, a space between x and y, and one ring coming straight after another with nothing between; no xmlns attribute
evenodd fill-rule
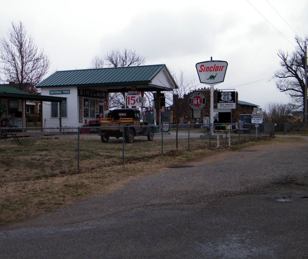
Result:
<svg viewBox="0 0 308 259"><path fill-rule="evenodd" d="M221 60L211 60L196 64L200 83L210 85L211 106L210 123L214 122L214 86L224 82L228 63Z"/></svg>

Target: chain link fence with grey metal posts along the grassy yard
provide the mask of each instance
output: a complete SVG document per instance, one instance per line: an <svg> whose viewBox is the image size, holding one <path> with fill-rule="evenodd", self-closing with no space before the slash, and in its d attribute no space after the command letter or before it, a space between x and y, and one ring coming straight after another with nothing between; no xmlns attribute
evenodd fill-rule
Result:
<svg viewBox="0 0 308 259"><path fill-rule="evenodd" d="M26 172L29 179L79 170L91 172L184 150L274 137L275 133L274 124L258 128L254 124L232 125L233 130L221 130L221 124L215 124L220 130L209 135L201 124L150 126L153 130L150 136L149 131L141 132L137 126L108 127L122 135L108 136L107 141L106 136L100 135L100 127L0 128L2 177L14 178L14 173L10 173L12 167ZM133 140L129 137L131 131Z"/></svg>

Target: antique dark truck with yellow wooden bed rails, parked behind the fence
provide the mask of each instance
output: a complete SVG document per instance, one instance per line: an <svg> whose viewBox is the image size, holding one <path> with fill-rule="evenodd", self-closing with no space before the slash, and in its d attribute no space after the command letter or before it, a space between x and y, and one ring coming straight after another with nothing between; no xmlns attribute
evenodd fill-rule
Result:
<svg viewBox="0 0 308 259"><path fill-rule="evenodd" d="M136 136L147 136L148 141L153 140L154 126L140 120L139 110L116 109L108 117L99 119L99 135L103 143L108 142L109 137L123 137L123 131L127 143L132 143Z"/></svg>

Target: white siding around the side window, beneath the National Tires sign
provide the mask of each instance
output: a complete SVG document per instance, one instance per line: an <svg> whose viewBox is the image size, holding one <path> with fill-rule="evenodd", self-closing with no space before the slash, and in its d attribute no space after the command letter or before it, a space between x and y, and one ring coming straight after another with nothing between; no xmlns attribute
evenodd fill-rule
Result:
<svg viewBox="0 0 308 259"><path fill-rule="evenodd" d="M49 94L49 90L70 90L70 94ZM78 97L76 87L44 87L42 95L67 98L67 118L62 118L62 126L76 127L82 125L78 117ZM59 127L59 118L51 118L51 102L43 102L43 127Z"/></svg>

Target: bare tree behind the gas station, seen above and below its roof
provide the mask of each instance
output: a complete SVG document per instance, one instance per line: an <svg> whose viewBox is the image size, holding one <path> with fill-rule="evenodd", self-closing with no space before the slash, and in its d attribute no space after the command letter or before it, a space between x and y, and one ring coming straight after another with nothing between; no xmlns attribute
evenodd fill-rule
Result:
<svg viewBox="0 0 308 259"><path fill-rule="evenodd" d="M145 57L136 53L136 50L124 49L111 50L104 58L95 56L92 58L90 68L118 67L118 66L140 66L145 63ZM124 93L109 94L109 108L125 106Z"/></svg>

